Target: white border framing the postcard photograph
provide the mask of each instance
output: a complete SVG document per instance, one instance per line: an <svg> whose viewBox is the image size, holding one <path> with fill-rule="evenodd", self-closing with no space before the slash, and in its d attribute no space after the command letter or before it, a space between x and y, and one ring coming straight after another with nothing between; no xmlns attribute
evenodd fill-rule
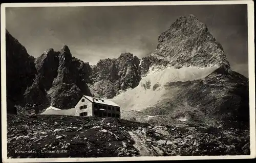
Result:
<svg viewBox="0 0 256 163"><path fill-rule="evenodd" d="M237 156L148 156L97 158L7 158L6 109L6 7L68 7L68 6L155 6L155 5L231 5L247 4L248 14L248 68L250 106L250 155ZM1 87L2 87L2 158L3 162L79 162L79 161L133 161L133 160L191 160L191 159L245 159L256 157L255 145L255 73L254 73L254 6L253 1L187 1L187 2L104 2L104 3L7 3L1 4Z"/></svg>

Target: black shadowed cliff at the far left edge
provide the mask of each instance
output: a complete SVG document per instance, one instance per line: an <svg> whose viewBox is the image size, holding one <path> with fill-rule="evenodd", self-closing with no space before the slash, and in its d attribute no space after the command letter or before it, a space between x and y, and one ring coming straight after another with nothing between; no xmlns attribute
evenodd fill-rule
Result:
<svg viewBox="0 0 256 163"><path fill-rule="evenodd" d="M37 74L35 58L6 30L7 112L16 113L14 105L24 103L23 94Z"/></svg>

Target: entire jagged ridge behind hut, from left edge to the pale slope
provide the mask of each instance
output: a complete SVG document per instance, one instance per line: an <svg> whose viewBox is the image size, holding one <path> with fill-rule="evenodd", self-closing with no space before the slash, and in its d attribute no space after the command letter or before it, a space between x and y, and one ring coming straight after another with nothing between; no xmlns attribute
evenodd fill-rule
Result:
<svg viewBox="0 0 256 163"><path fill-rule="evenodd" d="M48 49L34 59L7 32L8 108L15 109L12 101L17 96L20 103L16 105L24 107L26 104L27 109L36 109L36 112L49 105L72 108L82 95L112 98L119 94L119 90L138 85L141 80L139 63L133 54L123 53L117 59L100 60L91 67L88 62L72 57L67 45L63 45L59 52Z"/></svg>

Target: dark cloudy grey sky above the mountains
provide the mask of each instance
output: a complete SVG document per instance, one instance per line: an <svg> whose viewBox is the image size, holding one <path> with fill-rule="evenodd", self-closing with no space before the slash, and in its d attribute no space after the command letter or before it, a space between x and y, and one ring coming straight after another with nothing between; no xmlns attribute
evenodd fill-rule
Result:
<svg viewBox="0 0 256 163"><path fill-rule="evenodd" d="M130 52L139 58L180 16L194 14L220 42L231 68L248 77L247 5L6 8L6 28L32 56L67 44L96 64Z"/></svg>

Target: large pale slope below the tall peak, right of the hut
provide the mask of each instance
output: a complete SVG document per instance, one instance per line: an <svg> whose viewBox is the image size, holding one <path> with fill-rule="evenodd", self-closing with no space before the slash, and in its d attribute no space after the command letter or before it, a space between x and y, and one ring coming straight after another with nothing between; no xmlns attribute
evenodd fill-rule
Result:
<svg viewBox="0 0 256 163"><path fill-rule="evenodd" d="M165 89L165 85L169 82L185 82L203 79L217 69L217 67L205 69L197 67L181 67L179 69L170 67L159 69L159 67L152 67L150 69L151 74L142 77L137 87L122 92L114 97L112 101L120 105L122 110L142 111L146 107L152 107L157 103L161 103L161 100L165 98L169 99L177 95L179 91L178 88L172 88L171 92ZM155 89L155 87L157 87L157 89ZM167 96L166 93L168 97L165 97Z"/></svg>

